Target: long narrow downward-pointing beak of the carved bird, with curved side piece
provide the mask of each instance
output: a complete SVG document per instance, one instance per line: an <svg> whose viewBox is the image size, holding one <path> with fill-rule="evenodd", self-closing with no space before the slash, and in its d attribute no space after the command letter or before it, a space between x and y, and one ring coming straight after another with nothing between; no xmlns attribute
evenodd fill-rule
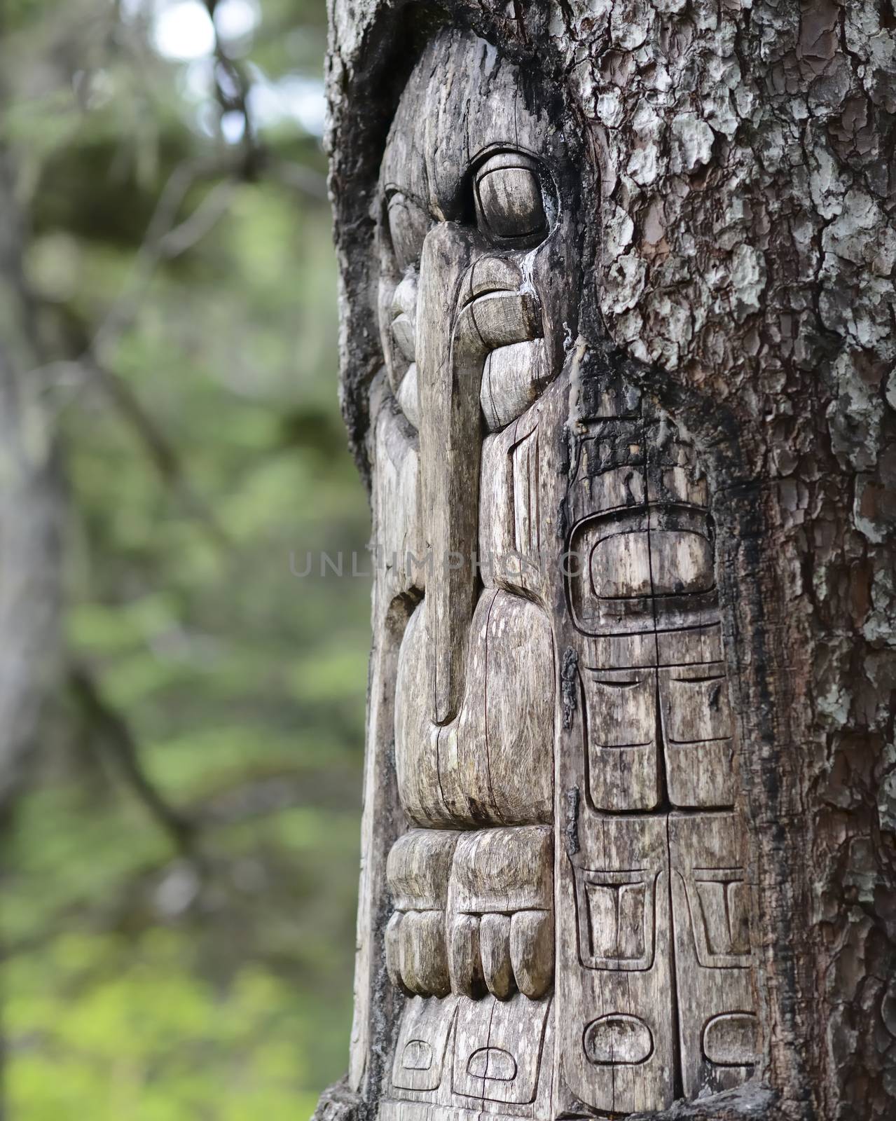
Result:
<svg viewBox="0 0 896 1121"><path fill-rule="evenodd" d="M427 234L421 261L416 355L423 509L433 563L426 645L436 724L449 723L460 710L478 595L482 368L496 348L542 334L537 300L518 290L516 267L495 262L495 280L502 281L496 288L479 265L470 268L472 256L471 235L441 223Z"/></svg>

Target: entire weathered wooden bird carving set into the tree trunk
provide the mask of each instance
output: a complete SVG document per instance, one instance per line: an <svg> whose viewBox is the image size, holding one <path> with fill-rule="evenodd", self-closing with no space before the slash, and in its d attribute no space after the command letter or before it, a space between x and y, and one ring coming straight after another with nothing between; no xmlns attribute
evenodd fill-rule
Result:
<svg viewBox="0 0 896 1121"><path fill-rule="evenodd" d="M657 1110L757 1047L711 494L579 339L588 200L534 92L438 33L381 164L352 1078L385 1119Z"/></svg>

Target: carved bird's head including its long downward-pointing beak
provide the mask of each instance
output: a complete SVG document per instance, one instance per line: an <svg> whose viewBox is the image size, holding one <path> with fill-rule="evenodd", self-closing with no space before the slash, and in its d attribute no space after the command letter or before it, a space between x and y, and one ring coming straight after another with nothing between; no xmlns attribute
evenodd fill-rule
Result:
<svg viewBox="0 0 896 1121"><path fill-rule="evenodd" d="M419 430L436 724L461 703L483 436L532 406L575 332L562 143L527 102L519 72L482 40L440 37L382 160L379 325L392 392Z"/></svg>

